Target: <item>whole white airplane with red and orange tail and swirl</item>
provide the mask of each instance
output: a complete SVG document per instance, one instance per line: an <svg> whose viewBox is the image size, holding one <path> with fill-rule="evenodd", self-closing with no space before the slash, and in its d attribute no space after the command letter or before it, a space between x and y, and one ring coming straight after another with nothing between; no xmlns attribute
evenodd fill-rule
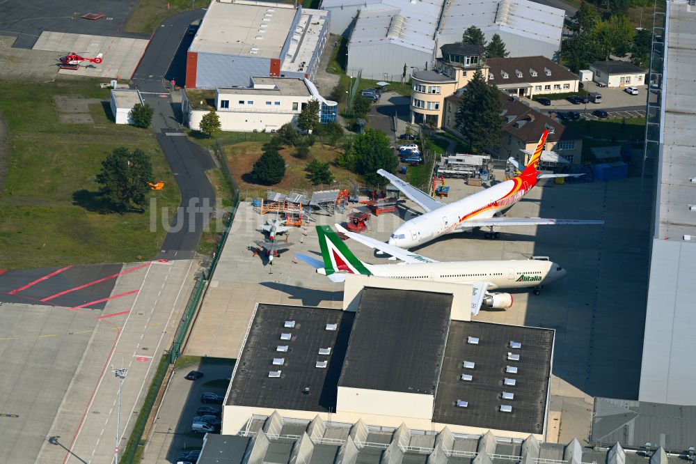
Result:
<svg viewBox="0 0 696 464"><path fill-rule="evenodd" d="M497 215L501 210L505 210L520 201L527 192L532 190L532 187L537 185L537 180L539 179L578 176L578 174L541 174L537 171L537 164L539 164L541 150L544 149L544 144L546 144L547 135L548 130L545 130L544 134L541 135L541 139L539 139L529 164L520 176L505 180L505 182L493 185L493 187L469 195L454 203L441 203L427 193L397 178L397 176L379 169L377 173L386 177L397 189L425 210L425 214L406 221L396 229L389 238L389 244L409 249L434 240L440 235L445 235L445 233L461 232L475 227L488 227L490 232L486 234L487 238L497 238L500 234L493 232L493 227L498 226L604 224L603 220L580 221L576 219L503 217Z"/></svg>

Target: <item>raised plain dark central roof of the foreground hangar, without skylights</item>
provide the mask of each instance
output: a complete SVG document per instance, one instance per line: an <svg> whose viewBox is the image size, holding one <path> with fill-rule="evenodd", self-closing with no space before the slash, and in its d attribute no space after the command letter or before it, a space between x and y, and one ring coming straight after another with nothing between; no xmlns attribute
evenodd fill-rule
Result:
<svg viewBox="0 0 696 464"><path fill-rule="evenodd" d="M339 387L434 394L452 295L366 287Z"/></svg>

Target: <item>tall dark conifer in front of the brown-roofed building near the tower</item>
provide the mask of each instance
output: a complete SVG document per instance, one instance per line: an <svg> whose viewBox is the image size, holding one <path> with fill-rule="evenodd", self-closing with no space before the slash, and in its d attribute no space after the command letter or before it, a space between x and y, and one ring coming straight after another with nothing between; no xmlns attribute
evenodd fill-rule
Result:
<svg viewBox="0 0 696 464"><path fill-rule="evenodd" d="M488 86L477 70L461 95L461 106L455 116L457 129L475 153L498 145L503 130L501 110L498 87Z"/></svg>

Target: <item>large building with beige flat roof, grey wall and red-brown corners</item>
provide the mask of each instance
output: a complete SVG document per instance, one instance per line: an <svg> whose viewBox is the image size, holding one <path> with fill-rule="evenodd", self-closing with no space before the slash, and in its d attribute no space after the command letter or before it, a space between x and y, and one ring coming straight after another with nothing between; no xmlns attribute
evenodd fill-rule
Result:
<svg viewBox="0 0 696 464"><path fill-rule="evenodd" d="M313 79L329 13L292 4L215 0L187 52L186 88L246 86L251 77Z"/></svg>

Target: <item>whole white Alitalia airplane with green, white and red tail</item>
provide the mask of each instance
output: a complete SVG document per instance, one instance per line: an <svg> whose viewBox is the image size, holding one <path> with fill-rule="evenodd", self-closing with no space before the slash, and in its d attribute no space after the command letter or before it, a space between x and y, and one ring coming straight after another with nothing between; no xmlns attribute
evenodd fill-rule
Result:
<svg viewBox="0 0 696 464"><path fill-rule="evenodd" d="M565 274L560 265L548 258L534 257L512 261L450 261L441 263L431 258L380 242L374 238L349 232L336 224L338 230L349 238L370 248L390 254L404 261L395 264L367 264L360 261L329 226L316 226L323 261L299 254L297 258L313 266L318 274L332 281L345 281L346 274L374 275L392 279L416 279L473 286L471 312L478 314L481 307L507 309L512 306L512 295L494 293L498 288L539 288L550 284Z"/></svg>

